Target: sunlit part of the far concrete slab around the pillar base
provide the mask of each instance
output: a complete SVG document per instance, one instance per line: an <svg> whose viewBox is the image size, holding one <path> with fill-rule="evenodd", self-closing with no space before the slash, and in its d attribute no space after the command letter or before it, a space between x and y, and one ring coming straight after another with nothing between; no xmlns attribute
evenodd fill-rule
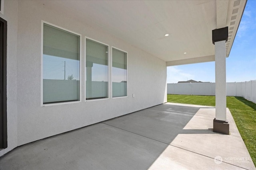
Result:
<svg viewBox="0 0 256 170"><path fill-rule="evenodd" d="M207 116L210 114L214 115L214 113L215 109L199 109L196 115L184 127L184 129L190 130L192 133L194 132L194 134L178 134L170 145L211 158L221 156L223 162L250 169L252 160L248 156L244 141L238 132L229 109L227 109L227 114L229 117L228 121L230 122L230 135L219 133L196 134L196 129L200 128L198 122L202 122L201 125L203 126L201 128L212 129L212 118Z"/></svg>

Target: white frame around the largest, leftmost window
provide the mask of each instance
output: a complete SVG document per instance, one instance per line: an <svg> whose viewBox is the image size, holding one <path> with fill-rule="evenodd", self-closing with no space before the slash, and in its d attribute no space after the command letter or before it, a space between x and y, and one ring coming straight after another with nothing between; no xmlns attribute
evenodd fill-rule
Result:
<svg viewBox="0 0 256 170"><path fill-rule="evenodd" d="M56 27L56 28L59 28L59 29L62 29L62 30L64 30L64 31L68 31L68 32L70 32L70 33L73 33L73 34L76 34L76 35L78 35L78 36L80 36L80 47L79 47L79 80L80 80L80 82L79 82L79 101L74 101L74 102L58 102L58 103L52 103L52 104L44 104L44 102L43 102L43 46L44 46L44 42L43 42L43 35L44 35L44 23L46 23L46 24L48 24L48 25L51 25L51 26L53 26L53 27ZM68 29L65 29L65 28L63 28L63 27L60 27L60 26L58 26L58 25L54 25L54 24L52 24L52 23L49 23L49 22L47 22L47 21L41 21L41 106L55 106L55 105L62 105L62 104L74 104L74 103L81 103L81 82L82 82L82 80L81 80L81 73L82 73L82 68L81 68L81 66L82 66L82 62L81 62L81 53L82 53L82 49L81 49L81 47L82 47L82 35L81 34L79 34L79 33L76 33L76 32L74 32L74 31L70 31L70 30L68 30Z"/></svg>

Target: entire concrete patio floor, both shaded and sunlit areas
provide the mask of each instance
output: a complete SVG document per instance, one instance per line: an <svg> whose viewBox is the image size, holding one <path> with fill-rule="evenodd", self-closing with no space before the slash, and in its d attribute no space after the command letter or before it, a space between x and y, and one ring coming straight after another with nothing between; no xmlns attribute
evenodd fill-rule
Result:
<svg viewBox="0 0 256 170"><path fill-rule="evenodd" d="M0 169L255 169L229 109L230 135L212 131L214 117L160 104L18 147Z"/></svg>

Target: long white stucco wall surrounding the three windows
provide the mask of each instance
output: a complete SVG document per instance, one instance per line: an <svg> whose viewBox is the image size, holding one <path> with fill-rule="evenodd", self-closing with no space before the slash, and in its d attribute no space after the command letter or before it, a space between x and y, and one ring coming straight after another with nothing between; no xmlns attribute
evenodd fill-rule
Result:
<svg viewBox="0 0 256 170"><path fill-rule="evenodd" d="M8 75L12 76L8 78L7 94L12 99L12 102L8 102L8 137L12 137L8 138L8 146L10 143L14 143L15 147L20 146L167 102L166 62L104 32L102 28L92 27L71 18L65 12L46 7L40 1L5 1L4 5L16 8L4 9L5 13L13 12L8 14L12 16L10 22L8 21L8 28L9 23L12 20L17 22L18 17L18 35L17 32L8 34L8 39L18 39L15 42L9 40L12 45L17 42L17 55L14 52L15 47L12 51L15 54L10 55L9 51L8 55L8 60L12 62L7 68ZM80 103L41 106L42 20L82 35ZM17 27L17 23L13 25L14 28ZM85 102L85 36L128 52L128 97ZM109 85L111 93L112 85ZM10 93L12 91L14 92ZM135 95L134 98L132 94ZM11 129L14 130L9 132ZM5 150L10 149L8 147ZM0 155L5 150L1 150Z"/></svg>

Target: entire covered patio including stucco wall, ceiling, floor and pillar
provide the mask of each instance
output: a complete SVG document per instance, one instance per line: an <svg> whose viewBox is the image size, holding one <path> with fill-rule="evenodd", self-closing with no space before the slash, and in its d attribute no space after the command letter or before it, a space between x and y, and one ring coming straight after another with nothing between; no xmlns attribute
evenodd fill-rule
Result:
<svg viewBox="0 0 256 170"><path fill-rule="evenodd" d="M0 2L1 170L255 169L226 109L246 0ZM210 61L215 108L166 103L167 66Z"/></svg>

